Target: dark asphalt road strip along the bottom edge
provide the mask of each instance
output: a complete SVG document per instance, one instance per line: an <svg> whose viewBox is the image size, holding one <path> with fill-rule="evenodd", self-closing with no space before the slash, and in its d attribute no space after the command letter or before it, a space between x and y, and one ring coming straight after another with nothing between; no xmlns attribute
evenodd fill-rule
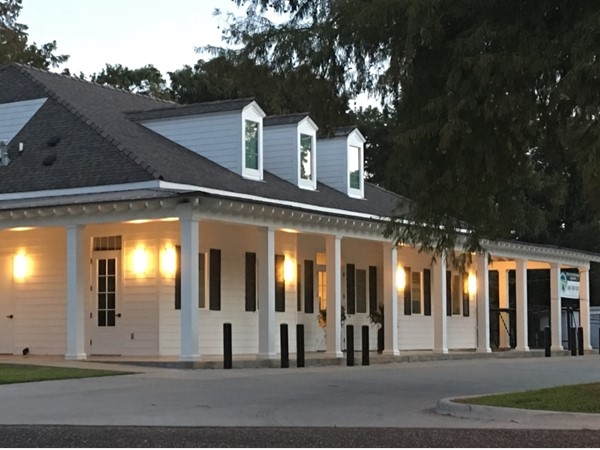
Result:
<svg viewBox="0 0 600 450"><path fill-rule="evenodd" d="M0 426L0 446L119 448L598 448L600 431L438 428Z"/></svg>

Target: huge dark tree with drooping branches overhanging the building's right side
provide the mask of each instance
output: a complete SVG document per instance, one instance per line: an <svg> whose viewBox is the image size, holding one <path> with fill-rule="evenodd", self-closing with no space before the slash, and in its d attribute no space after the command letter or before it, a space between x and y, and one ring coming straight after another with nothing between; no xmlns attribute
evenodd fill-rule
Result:
<svg viewBox="0 0 600 450"><path fill-rule="evenodd" d="M596 2L235 1L247 15L225 38L240 56L387 106L385 164L370 170L414 200L390 236L434 254L482 238L600 250L568 238L598 228Z"/></svg>

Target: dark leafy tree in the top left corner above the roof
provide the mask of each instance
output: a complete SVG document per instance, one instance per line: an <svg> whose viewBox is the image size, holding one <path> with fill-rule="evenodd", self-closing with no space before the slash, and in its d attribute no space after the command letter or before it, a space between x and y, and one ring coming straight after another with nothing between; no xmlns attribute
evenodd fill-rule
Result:
<svg viewBox="0 0 600 450"><path fill-rule="evenodd" d="M48 69L67 61L68 55L56 55L56 41L41 46L27 42L27 26L19 23L21 0L0 0L0 65L13 62Z"/></svg>

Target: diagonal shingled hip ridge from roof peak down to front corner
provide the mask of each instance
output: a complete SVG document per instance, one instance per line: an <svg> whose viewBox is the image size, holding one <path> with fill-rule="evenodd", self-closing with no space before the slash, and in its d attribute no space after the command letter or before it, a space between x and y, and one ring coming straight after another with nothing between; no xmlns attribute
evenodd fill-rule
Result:
<svg viewBox="0 0 600 450"><path fill-rule="evenodd" d="M19 73L21 73L23 76L28 78L31 82L40 86L43 89L44 93L47 93L49 95L49 97L54 99L59 105L61 105L63 108L65 108L69 113L73 114L76 119L80 120L85 125L87 125L89 128L91 128L95 133L100 135L100 137L102 139L106 140L109 144L113 145L117 150L119 150L122 154L124 154L126 157L128 157L131 161L133 161L135 164L140 166L143 170L148 172L154 179L162 179L163 178L162 174L157 169L153 168L150 164L148 164L145 161L143 161L142 159L140 159L133 151L127 149L118 139L116 139L115 137L113 137L112 135L110 135L109 133L104 131L102 128L100 128L100 126L98 126L92 119L87 117L85 114L81 113L77 108L75 108L73 105L71 105L68 101L63 99L60 95L58 95L56 92L51 90L44 83L37 80L32 74L28 73L27 70L25 70L25 69L28 69L30 67L23 66L22 64L16 64L16 63L13 63L13 64L14 64L14 66L16 66L15 68L19 71ZM52 72L44 71L44 70L33 68L33 67L31 67L31 69L38 70L43 73L57 75ZM64 75L61 75L61 76L64 76ZM66 76L64 76L64 77L66 77ZM86 81L86 80L83 80L83 81ZM91 83L91 84L94 84L94 83ZM100 86L100 85L96 85L96 86ZM102 87L102 86L100 86L100 87Z"/></svg>

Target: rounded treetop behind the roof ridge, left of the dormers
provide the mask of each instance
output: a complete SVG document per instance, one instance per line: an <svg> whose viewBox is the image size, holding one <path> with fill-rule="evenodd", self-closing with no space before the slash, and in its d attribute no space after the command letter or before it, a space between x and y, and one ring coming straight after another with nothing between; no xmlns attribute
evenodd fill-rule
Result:
<svg viewBox="0 0 600 450"><path fill-rule="evenodd" d="M99 74L94 73L90 76L90 81L136 94L170 98L166 80L160 70L152 64L138 69L129 69L121 64L106 64Z"/></svg>

